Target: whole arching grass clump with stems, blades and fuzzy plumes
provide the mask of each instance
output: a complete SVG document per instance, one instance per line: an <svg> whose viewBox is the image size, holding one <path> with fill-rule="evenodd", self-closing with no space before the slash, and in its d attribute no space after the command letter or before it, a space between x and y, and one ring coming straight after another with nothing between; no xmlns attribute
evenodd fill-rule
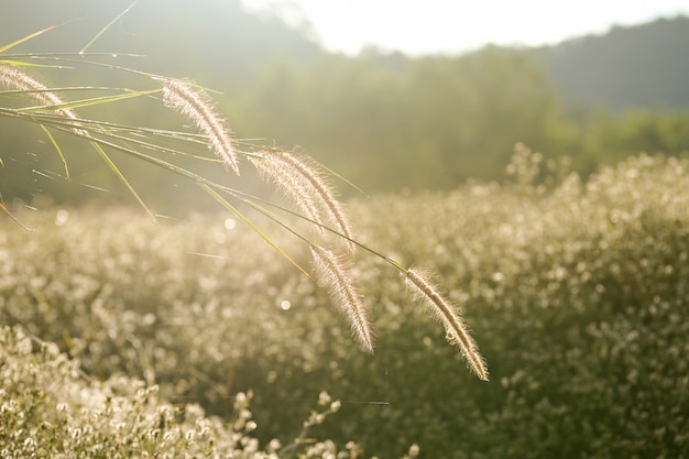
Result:
<svg viewBox="0 0 689 459"><path fill-rule="evenodd" d="M25 40L15 42L15 44ZM9 47L11 46L0 48L0 53ZM43 58L50 58L50 56L43 56ZM354 238L342 205L335 198L335 193L325 178L328 170L320 166L317 162L302 154L285 152L276 149L259 149L258 151L238 150L237 146L240 145L241 142L232 139L225 119L217 112L207 94L190 81L164 78L127 68L119 68L145 76L146 78L156 81L158 87L143 91L127 89L114 96L66 101L57 96L54 89L51 89L37 78L28 75L17 67L18 64L14 62L0 59L0 84L12 89L10 91L0 91L0 95L19 95L32 99L40 105L36 107L25 107L20 109L0 107L0 116L41 125L47 133L51 142L55 145L61 159L65 163L66 178L68 178L68 168L66 166L67 161L57 144L57 141L51 134L50 129L66 132L88 141L108 164L110 170L119 177L129 192L154 220L155 216L153 212L151 212L143 199L139 197L134 188L119 171L116 163L106 152L106 149L128 154L134 159L154 164L168 172L173 172L195 182L209 196L220 203L225 208L230 210L242 222L263 238L271 247L273 247L273 249L277 250L282 256L284 256L304 274L309 276L307 270L299 266L258 226L255 226L236 206L226 199L221 193L225 193L232 199L237 199L240 203L250 206L303 240L308 245L319 278L328 286L328 291L333 300L341 306L347 318L349 319L352 331L362 348L372 352L374 342L371 326L369 324L368 310L351 276L350 261L344 256L344 254L338 253L336 250L325 247L324 243L310 240L299 233L289 225L285 223L276 214L269 210L267 207L273 207L281 211L296 216L315 226L319 230L321 238L325 238L327 233L337 236L340 240L346 242L350 253L353 253L356 248L361 248L365 252L380 258L396 269L404 277L404 283L406 284L408 291L413 294L413 297L418 298L426 304L434 315L444 324L448 340L460 349L461 354L467 360L473 372L481 380L488 380L485 363L480 356L478 347L471 338L468 328L463 324L457 306L451 304L448 298L440 293L439 288L431 284L426 274L422 274L422 270L416 267L404 267L401 263L383 255L368 245L362 244ZM116 66L108 67L116 68ZM87 89L89 88L75 87L62 88L61 90L78 91ZM187 119L192 120L200 130L203 135L189 135L183 132L153 130L140 127L125 127L107 121L81 119L75 111L80 107L110 103L141 96L152 96L156 92L163 94L163 101L167 108L172 108L173 110L185 116ZM210 145L217 156L217 160L214 161L221 162L226 168L231 168L238 174L238 156L247 156L261 175L269 178L285 195L292 198L300 212L275 205L269 200L256 198L241 190L215 183L185 167L178 166L152 154L146 154L139 150L145 149L150 150L152 153L161 154L185 154L198 160L211 161L208 157L190 155L184 149L173 149L162 145L160 144L161 139ZM11 218L14 218L4 205L1 206L0 210L8 212ZM326 220L332 223L333 228L326 223Z"/></svg>

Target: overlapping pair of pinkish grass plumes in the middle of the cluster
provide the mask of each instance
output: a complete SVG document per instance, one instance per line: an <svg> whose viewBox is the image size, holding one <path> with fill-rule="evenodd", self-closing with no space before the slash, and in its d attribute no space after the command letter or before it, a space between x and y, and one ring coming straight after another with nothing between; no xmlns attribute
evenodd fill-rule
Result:
<svg viewBox="0 0 689 459"><path fill-rule="evenodd" d="M317 162L298 153L276 149L264 150L251 156L250 161L263 177L275 183L310 220L322 225L321 215L325 214L338 232L344 236L349 250L357 250L349 219ZM324 232L322 227L319 230Z"/></svg>

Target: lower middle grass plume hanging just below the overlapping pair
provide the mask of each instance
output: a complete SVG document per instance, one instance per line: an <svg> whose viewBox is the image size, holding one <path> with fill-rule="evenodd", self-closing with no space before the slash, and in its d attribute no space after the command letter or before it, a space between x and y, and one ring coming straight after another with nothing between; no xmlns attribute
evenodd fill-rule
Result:
<svg viewBox="0 0 689 459"><path fill-rule="evenodd" d="M372 353L373 337L369 325L369 315L361 300L361 295L352 284L349 265L342 256L330 250L313 244L310 249L320 280L328 285L330 296L344 310L361 347Z"/></svg>

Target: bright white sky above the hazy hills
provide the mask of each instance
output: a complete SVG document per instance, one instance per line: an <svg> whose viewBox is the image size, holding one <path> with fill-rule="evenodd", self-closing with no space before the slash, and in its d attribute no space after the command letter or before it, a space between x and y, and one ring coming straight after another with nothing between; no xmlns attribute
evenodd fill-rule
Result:
<svg viewBox="0 0 689 459"><path fill-rule="evenodd" d="M656 18L689 15L689 0L244 0L302 7L331 51L367 44L407 54L457 54L488 43L543 45Z"/></svg>

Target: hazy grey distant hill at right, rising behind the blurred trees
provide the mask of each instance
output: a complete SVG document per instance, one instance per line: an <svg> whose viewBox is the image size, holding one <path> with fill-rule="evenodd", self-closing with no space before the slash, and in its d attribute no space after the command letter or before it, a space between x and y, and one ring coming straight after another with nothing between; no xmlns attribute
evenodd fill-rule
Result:
<svg viewBox="0 0 689 459"><path fill-rule="evenodd" d="M689 107L689 18L615 26L537 50L568 103L628 108Z"/></svg>

